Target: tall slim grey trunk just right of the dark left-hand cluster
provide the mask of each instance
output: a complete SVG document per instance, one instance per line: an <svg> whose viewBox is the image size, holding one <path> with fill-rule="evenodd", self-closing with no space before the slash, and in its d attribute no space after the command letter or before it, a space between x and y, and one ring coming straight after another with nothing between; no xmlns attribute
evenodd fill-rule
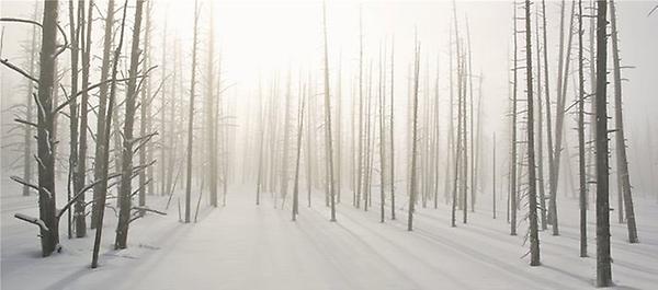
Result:
<svg viewBox="0 0 658 290"><path fill-rule="evenodd" d="M192 196L192 156L193 156L193 131L194 131L194 94L196 85L196 31L198 27L198 0L194 0L194 40L192 44L192 80L190 88L190 114L188 115L188 167L185 182L185 223L190 222L190 198Z"/></svg>

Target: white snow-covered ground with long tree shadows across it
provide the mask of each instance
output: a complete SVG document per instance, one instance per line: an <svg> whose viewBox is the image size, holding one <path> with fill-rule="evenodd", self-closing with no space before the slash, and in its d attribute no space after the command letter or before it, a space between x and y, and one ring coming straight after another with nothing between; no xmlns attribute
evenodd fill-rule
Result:
<svg viewBox="0 0 658 290"><path fill-rule="evenodd" d="M131 228L128 248L112 250L114 216L109 211L101 266L89 268L92 234L68 240L64 251L39 257L36 227L15 212L35 213L36 199L3 193L1 198L1 288L12 289L592 289L595 251L593 211L589 253L578 257L577 204L561 198L560 236L541 233L542 266L530 267L519 236L509 235L504 208L491 219L480 196L468 224L450 227L450 208L419 208L415 231L407 213L379 222L378 206L365 212L338 206L329 222L324 200L300 201L297 222L290 208L275 209L270 195L253 205L250 189L234 189L227 206L202 206L197 223L178 221L177 200L167 217L149 214ZM343 192L343 195L351 193ZM196 198L193 197L195 200ZM398 202L405 205L405 197ZM613 279L619 289L658 289L658 204L636 198L640 244L612 222ZM378 201L377 196L374 200ZM163 209L167 199L150 199ZM204 204L204 202L202 202ZM290 202L288 202L290 204ZM499 200L500 205L504 205ZM612 214L614 217L614 214ZM458 216L461 218L461 213ZM461 219L458 219L461 220Z"/></svg>

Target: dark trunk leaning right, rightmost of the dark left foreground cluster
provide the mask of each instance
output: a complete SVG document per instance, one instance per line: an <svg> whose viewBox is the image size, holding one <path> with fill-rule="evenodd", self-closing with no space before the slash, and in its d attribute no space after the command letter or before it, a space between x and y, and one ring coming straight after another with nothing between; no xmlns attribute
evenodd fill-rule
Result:
<svg viewBox="0 0 658 290"><path fill-rule="evenodd" d="M123 147L121 159L121 184L118 187L118 223L116 224L116 240L114 248L126 248L128 240L128 229L132 218L132 179L133 179L133 127L135 121L135 109L137 101L137 70L139 69L139 59L141 57L139 49L139 35L141 32L141 12L144 0L137 0L135 10L135 26L133 28L133 42L131 49L131 69L128 71L129 80L126 91L126 113L124 120ZM144 169L143 169L144 170ZM141 171L143 171L141 170Z"/></svg>

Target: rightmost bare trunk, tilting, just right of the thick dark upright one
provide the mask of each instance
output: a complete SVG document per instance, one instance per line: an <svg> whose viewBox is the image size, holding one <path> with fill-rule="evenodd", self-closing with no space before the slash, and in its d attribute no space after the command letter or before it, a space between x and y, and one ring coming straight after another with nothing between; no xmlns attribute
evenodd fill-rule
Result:
<svg viewBox="0 0 658 290"><path fill-rule="evenodd" d="M635 209L633 208L633 194L631 192L631 177L628 175L628 160L626 158L626 139L624 138L624 115L622 107L622 68L619 48L619 31L616 26L616 11L614 0L610 0L610 24L612 25L612 61L614 66L614 120L615 120L615 144L616 167L621 175L622 189L624 193L624 209L626 210L626 225L628 228L628 242L638 243L637 225L635 223Z"/></svg>

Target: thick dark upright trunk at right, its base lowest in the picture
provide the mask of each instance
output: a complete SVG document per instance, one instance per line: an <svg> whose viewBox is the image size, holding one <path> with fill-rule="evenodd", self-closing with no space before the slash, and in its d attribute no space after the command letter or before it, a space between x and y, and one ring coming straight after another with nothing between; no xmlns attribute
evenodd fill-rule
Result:
<svg viewBox="0 0 658 290"><path fill-rule="evenodd" d="M597 0L597 287L612 286L608 162L608 1Z"/></svg>

